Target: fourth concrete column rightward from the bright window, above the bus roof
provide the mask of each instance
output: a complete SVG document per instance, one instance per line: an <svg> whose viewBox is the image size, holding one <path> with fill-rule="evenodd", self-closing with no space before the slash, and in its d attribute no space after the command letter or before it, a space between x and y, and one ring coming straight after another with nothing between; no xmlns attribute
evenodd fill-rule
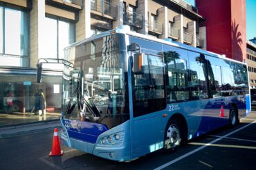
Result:
<svg viewBox="0 0 256 170"><path fill-rule="evenodd" d="M159 36L161 39L167 39L168 38L168 12L167 7L163 6L162 8L158 9L158 21L163 23L163 34Z"/></svg>

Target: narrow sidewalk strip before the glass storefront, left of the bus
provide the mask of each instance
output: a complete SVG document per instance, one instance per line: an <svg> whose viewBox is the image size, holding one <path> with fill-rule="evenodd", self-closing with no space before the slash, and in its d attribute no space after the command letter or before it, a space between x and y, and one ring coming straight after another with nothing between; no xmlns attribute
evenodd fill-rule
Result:
<svg viewBox="0 0 256 170"><path fill-rule="evenodd" d="M55 127L60 126L60 120L49 120L45 122L0 127L0 138L8 138L11 136L31 134L39 131L45 131L47 129L53 129Z"/></svg>

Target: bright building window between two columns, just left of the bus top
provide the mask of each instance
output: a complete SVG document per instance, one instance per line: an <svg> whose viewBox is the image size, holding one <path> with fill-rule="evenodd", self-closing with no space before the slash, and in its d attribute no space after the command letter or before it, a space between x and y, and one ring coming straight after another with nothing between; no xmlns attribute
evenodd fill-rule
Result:
<svg viewBox="0 0 256 170"><path fill-rule="evenodd" d="M44 30L44 56L63 59L64 47L75 42L75 24L46 17Z"/></svg>

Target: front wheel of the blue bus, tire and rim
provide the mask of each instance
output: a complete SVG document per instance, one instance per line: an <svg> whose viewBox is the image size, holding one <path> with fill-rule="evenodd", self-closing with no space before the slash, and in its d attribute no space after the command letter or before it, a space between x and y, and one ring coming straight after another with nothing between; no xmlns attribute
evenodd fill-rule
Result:
<svg viewBox="0 0 256 170"><path fill-rule="evenodd" d="M165 130L165 151L174 151L181 145L181 125L176 119L170 120Z"/></svg>

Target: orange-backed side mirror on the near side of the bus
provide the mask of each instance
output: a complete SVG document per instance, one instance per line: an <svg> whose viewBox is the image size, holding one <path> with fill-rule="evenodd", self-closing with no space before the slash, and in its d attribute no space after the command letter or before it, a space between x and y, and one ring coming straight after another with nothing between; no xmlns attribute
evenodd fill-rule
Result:
<svg viewBox="0 0 256 170"><path fill-rule="evenodd" d="M145 66L145 54L144 53L136 53L134 54L134 74L144 74L144 66Z"/></svg>

